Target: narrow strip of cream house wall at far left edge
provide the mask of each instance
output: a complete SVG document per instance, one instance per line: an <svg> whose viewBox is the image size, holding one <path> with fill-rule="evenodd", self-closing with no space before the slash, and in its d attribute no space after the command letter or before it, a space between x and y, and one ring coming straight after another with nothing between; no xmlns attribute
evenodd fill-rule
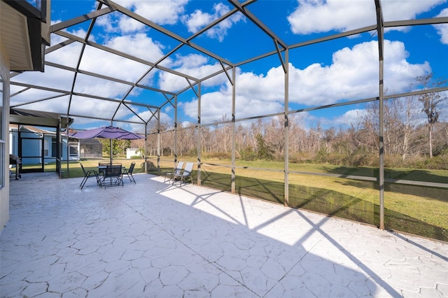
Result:
<svg viewBox="0 0 448 298"><path fill-rule="evenodd" d="M3 110L9 111L9 59L6 57L6 50L4 50L1 36L0 36L0 75L3 82ZM0 188L0 232L9 220L9 138L7 136L7 127L9 124L9 113L4 113L1 117L1 125L3 127L3 136L6 141L3 154L0 156L3 159L3 177L4 183Z"/></svg>

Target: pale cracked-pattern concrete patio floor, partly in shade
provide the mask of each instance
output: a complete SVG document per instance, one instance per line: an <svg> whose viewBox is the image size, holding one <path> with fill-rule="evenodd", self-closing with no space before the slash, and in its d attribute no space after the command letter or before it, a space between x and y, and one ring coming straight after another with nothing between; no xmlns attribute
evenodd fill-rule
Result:
<svg viewBox="0 0 448 298"><path fill-rule="evenodd" d="M134 177L11 179L0 296L448 297L448 243Z"/></svg>

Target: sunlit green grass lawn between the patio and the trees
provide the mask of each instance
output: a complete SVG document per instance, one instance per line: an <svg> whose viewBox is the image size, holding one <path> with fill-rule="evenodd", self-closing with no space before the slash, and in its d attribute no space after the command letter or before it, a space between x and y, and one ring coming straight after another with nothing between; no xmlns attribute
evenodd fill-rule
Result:
<svg viewBox="0 0 448 298"><path fill-rule="evenodd" d="M109 159L104 159L108 161ZM156 159L149 159L157 166ZM197 162L194 158L179 158L183 162ZM99 159L80 161L85 169L97 169ZM144 159L114 159L129 167L136 162L134 173L143 173ZM202 185L219 190L231 191L230 161L203 160L201 171ZM218 164L214 166L209 164ZM170 158L160 161L160 169L149 169L148 173L164 175L171 171L174 162ZM196 164L197 166L197 164ZM282 162L236 162L235 185L238 194L265 199L284 204L284 173ZM55 171L54 165L52 171ZM51 167L45 167L50 171ZM196 167L195 167L196 169ZM333 173L339 175L377 177L375 168L332 166L328 164L290 164L290 171L309 173ZM83 177L79 162L62 164L63 177ZM193 173L196 183L197 171ZM386 169L385 178L419 180L444 183L448 171ZM304 208L309 211L379 225L379 187L374 181L353 180L302 173L288 176L288 206ZM399 185L386 183L384 191L386 229L448 241L448 190L437 187Z"/></svg>

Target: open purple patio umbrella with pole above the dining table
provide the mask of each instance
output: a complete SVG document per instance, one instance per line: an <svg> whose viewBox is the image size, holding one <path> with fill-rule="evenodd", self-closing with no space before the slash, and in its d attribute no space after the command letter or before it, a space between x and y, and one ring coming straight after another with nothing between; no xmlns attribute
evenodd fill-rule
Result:
<svg viewBox="0 0 448 298"><path fill-rule="evenodd" d="M73 132L73 134L69 134L69 136L76 139L94 139L94 138L110 139L111 163L112 163L112 139L121 139L121 140L144 139L144 136L139 136L138 134L134 134L133 132L128 132L125 129L113 126L88 129L81 132Z"/></svg>

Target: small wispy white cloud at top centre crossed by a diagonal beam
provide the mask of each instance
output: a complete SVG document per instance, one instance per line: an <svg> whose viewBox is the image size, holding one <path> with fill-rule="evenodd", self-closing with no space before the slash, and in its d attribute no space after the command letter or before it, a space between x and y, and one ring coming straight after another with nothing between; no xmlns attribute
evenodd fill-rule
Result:
<svg viewBox="0 0 448 298"><path fill-rule="evenodd" d="M214 12L212 14L204 13L202 12L202 10L195 10L191 15L183 17L183 22L188 27L188 31L196 33L203 27L218 19L218 17L221 17L228 13L230 11L230 8L228 8L228 6L225 6L223 3L216 3L214 4L213 10ZM217 38L219 41L223 41L228 29L230 29L233 24L239 22L240 20L243 20L243 15L241 15L241 13L235 13L234 15L223 20L223 22L220 22L214 27L208 29L205 34L210 38Z"/></svg>

